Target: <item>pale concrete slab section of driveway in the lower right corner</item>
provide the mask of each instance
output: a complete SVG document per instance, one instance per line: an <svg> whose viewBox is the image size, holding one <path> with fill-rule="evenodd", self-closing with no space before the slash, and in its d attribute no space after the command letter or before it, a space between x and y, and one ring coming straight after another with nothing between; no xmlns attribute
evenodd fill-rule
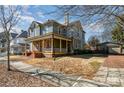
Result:
<svg viewBox="0 0 124 93"><path fill-rule="evenodd" d="M101 66L93 80L111 86L124 86L124 68L110 68Z"/></svg>

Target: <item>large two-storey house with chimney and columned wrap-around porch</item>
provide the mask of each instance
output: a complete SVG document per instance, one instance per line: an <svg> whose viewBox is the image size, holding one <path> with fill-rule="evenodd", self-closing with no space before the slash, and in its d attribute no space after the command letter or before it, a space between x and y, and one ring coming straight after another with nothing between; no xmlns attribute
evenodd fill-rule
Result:
<svg viewBox="0 0 124 93"><path fill-rule="evenodd" d="M83 49L85 43L85 32L80 21L69 23L67 16L65 24L55 20L45 23L33 21L28 33L30 52L26 54L34 58L72 54L75 49Z"/></svg>

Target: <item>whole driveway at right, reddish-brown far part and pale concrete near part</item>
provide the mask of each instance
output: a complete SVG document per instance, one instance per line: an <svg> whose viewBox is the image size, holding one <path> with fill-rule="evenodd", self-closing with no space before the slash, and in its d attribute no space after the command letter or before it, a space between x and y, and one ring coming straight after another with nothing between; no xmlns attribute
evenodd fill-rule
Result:
<svg viewBox="0 0 124 93"><path fill-rule="evenodd" d="M93 79L112 86L124 86L124 56L108 56Z"/></svg>

